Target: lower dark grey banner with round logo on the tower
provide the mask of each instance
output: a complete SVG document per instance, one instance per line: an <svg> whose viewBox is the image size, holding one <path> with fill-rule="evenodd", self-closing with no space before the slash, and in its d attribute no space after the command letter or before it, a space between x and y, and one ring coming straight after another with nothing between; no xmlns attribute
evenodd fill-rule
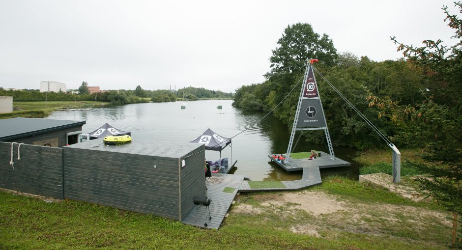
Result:
<svg viewBox="0 0 462 250"><path fill-rule="evenodd" d="M326 126L319 99L303 99L298 114L297 128L320 128Z"/></svg>

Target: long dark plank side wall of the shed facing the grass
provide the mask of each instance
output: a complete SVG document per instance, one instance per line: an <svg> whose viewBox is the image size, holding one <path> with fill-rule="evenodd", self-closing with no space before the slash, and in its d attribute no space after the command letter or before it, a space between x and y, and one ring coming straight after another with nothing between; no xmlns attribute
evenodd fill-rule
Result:
<svg viewBox="0 0 462 250"><path fill-rule="evenodd" d="M180 220L178 159L64 148L63 163L66 198Z"/></svg>

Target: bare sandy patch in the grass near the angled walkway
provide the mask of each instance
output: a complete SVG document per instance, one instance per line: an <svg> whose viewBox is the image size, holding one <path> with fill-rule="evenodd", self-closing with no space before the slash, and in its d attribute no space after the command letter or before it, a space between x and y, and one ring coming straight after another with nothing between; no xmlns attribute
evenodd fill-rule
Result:
<svg viewBox="0 0 462 250"><path fill-rule="evenodd" d="M256 199L263 201L262 206L284 206L287 204L315 215L331 214L346 209L345 202L337 201L335 197L322 192L270 194L264 195L264 197L263 195L257 196Z"/></svg>

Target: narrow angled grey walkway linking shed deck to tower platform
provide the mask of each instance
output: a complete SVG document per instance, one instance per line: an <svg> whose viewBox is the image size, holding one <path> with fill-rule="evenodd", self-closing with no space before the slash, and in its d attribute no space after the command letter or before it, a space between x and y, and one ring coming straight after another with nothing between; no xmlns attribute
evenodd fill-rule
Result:
<svg viewBox="0 0 462 250"><path fill-rule="evenodd" d="M249 186L248 181L242 181L239 187L239 192L260 192L260 191L290 191L299 190L302 188L311 187L314 185L321 184L321 174L318 167L304 167L302 173L302 179L296 181L282 181L285 188L260 188L253 189Z"/></svg>

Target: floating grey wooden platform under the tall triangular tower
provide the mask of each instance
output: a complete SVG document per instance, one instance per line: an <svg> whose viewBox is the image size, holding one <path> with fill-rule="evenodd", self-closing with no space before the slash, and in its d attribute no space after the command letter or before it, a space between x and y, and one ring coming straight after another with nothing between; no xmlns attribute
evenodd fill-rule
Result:
<svg viewBox="0 0 462 250"><path fill-rule="evenodd" d="M275 162L277 165L286 169L287 171L298 171L298 170L304 169L305 167L328 168L328 167L346 167L346 166L351 165L349 162L346 162L337 157L332 159L331 156L325 152L321 151L320 153L321 153L321 156L313 160L308 160L307 158L292 159L289 156L289 163L287 164L282 164L276 161L274 158L271 157L271 155L268 155L268 157L269 159L271 159L271 161ZM277 155L281 155L281 154L277 154Z"/></svg>

